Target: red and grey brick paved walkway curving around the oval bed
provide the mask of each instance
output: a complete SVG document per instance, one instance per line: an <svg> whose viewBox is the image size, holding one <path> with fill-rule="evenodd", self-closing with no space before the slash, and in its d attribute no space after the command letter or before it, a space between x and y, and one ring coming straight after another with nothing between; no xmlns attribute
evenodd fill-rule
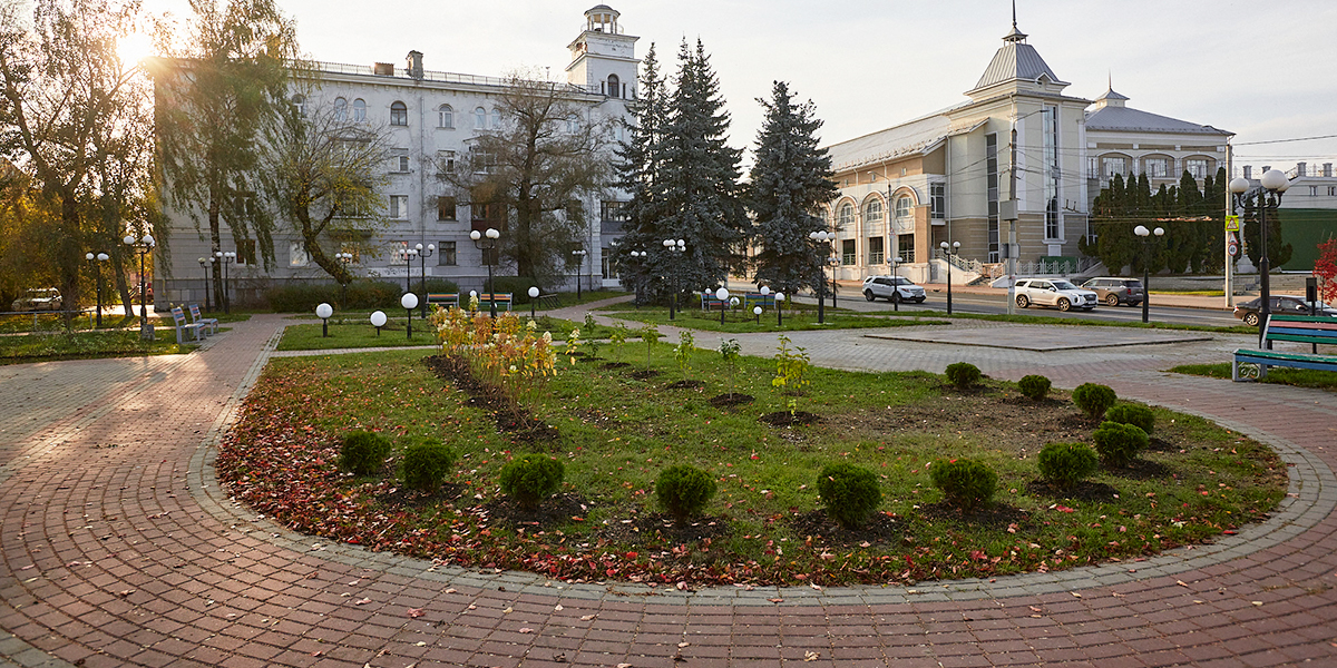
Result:
<svg viewBox="0 0 1337 668"><path fill-rule="evenodd" d="M0 665L1337 665L1337 398L1157 371L1242 339L1042 354L797 333L846 369L1099 378L1267 441L1292 496L1239 536L1135 564L660 592L373 554L233 504L209 445L286 322L253 318L190 355L0 367Z"/></svg>

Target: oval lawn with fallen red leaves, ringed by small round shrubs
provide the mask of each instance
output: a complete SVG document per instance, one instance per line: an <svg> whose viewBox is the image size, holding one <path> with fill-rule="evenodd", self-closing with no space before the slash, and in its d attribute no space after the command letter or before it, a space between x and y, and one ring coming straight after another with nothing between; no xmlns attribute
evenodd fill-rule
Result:
<svg viewBox="0 0 1337 668"><path fill-rule="evenodd" d="M773 385L775 359L739 358L730 373L718 351L694 350L685 370L673 346L642 342L559 355L558 375L523 406L551 428L531 442L499 430L508 420L435 374L433 359L390 350L271 361L221 448L221 478L257 512L328 540L570 581L685 587L915 582L1134 560L1258 521L1288 482L1265 446L1155 409L1151 448L1134 466L1063 492L1039 480L1038 452L1090 444L1096 426L1064 393L1031 401L991 379L963 391L925 373L810 369L812 383L792 394ZM754 401L719 401L727 394ZM820 422L763 421L792 410ZM356 429L393 440L378 474L338 469L341 438ZM459 454L432 494L398 478L404 446L418 440ZM527 514L497 477L531 452L562 461L566 476ZM935 461L960 457L999 476L981 510L956 510L929 480ZM877 474L882 504L860 529L822 513L817 473L833 462ZM656 476L678 464L718 485L689 526L655 500Z"/></svg>

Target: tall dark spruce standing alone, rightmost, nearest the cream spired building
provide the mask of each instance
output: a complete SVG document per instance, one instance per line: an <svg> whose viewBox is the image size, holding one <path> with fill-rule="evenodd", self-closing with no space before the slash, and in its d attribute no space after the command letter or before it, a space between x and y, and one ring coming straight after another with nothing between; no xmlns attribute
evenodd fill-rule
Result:
<svg viewBox="0 0 1337 668"><path fill-rule="evenodd" d="M770 100L757 102L766 108L766 119L757 134L746 188L759 248L755 279L794 294L822 281L824 253L808 234L825 226L816 211L838 191L830 156L818 147L822 122L814 118L813 103L796 104L785 81L773 84Z"/></svg>

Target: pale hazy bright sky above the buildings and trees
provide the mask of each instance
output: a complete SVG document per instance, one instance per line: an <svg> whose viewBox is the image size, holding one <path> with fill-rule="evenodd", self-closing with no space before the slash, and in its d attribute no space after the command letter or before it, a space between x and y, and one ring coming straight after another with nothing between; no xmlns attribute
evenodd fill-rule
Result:
<svg viewBox="0 0 1337 668"><path fill-rule="evenodd" d="M584 11L600 0L277 0L316 60L404 64L504 76L551 68L564 77ZM757 98L785 80L842 142L965 100L1001 37L1012 0L604 0L656 45L666 71L683 39L701 39L733 118L730 144L751 148ZM185 0L146 0L190 16ZM1337 3L1332 0L1016 0L1029 35L1070 96L1108 81L1128 106L1235 132L1235 164L1337 163ZM1254 144L1254 142L1267 142Z"/></svg>

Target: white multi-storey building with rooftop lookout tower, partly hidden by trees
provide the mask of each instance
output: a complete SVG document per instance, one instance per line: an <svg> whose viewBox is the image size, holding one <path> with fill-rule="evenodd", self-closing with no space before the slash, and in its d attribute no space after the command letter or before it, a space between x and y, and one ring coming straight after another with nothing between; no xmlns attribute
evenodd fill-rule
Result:
<svg viewBox="0 0 1337 668"><path fill-rule="evenodd" d="M639 60L635 57L638 37L626 35L619 13L598 5L584 13L584 29L568 45L567 65L570 99L588 114L590 122L624 118L626 103L636 95ZM404 281L410 274L414 287L425 270L427 278L448 278L463 290L480 289L487 277L483 253L469 239L472 230L501 227L504 220L489 207L456 202L453 186L439 178L444 171L464 168L475 138L495 131L504 119L497 99L508 81L500 77L436 72L424 68L424 55L410 51L404 67L389 63L352 65L317 63L320 80L316 88L294 95L299 107L332 106L334 114L368 127L381 128L390 147L385 167L385 211L389 226L374 239L364 239L378 253L358 254L350 269L360 277L382 277ZM583 275L600 285L600 265L612 239L620 235L618 192L591 195L587 220L588 253ZM234 251L237 263L230 270L234 303L254 302L261 291L285 282L328 282L329 275L309 261L301 236L278 222L274 228L275 266L266 269L258 258L257 239L234 235L223 226L222 247L210 246L206 235L182 211L167 211L171 226L170 267L155 279L154 295L159 305L203 302L205 273L198 258L215 251ZM330 253L340 251L340 240L330 239ZM435 246L425 267L394 261L394 251L416 244ZM166 261L162 258L159 262ZM504 271L503 271L504 273Z"/></svg>

